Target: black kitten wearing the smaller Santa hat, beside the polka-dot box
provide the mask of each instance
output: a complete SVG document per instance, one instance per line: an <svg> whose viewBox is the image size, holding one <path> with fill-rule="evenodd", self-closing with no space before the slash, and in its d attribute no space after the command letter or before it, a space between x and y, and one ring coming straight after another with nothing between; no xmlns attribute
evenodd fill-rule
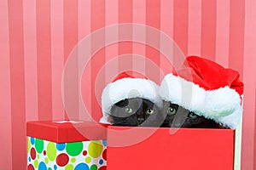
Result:
<svg viewBox="0 0 256 170"><path fill-rule="evenodd" d="M124 99L112 106L110 116L114 126L160 127L164 116L148 99Z"/></svg>

